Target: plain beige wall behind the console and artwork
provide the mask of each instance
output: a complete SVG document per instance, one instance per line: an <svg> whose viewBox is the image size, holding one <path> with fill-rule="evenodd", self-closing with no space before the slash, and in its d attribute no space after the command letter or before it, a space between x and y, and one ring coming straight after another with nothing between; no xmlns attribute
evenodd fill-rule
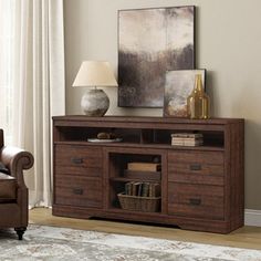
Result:
<svg viewBox="0 0 261 261"><path fill-rule="evenodd" d="M117 10L196 6L197 67L208 70L212 116L246 118L246 208L261 209L261 1L64 0L66 114L82 114L84 90L71 87L83 60L117 67ZM129 32L132 33L132 32ZM107 114L160 116L161 109L117 107Z"/></svg>

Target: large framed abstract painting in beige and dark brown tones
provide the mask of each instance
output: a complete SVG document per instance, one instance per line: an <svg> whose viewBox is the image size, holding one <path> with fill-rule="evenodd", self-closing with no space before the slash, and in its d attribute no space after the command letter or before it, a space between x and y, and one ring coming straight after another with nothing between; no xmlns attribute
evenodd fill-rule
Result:
<svg viewBox="0 0 261 261"><path fill-rule="evenodd" d="M195 67L195 7L118 11L118 106L163 107L165 73Z"/></svg>

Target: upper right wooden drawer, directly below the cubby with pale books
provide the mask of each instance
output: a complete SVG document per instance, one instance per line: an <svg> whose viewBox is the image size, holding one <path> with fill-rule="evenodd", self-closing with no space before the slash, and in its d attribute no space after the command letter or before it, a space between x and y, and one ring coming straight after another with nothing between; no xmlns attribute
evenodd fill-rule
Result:
<svg viewBox="0 0 261 261"><path fill-rule="evenodd" d="M171 152L168 181L223 186L222 152Z"/></svg>

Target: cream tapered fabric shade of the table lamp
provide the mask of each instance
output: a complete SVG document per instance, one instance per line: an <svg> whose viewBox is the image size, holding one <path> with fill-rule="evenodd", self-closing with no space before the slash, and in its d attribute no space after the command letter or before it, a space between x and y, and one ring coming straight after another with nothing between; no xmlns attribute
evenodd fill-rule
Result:
<svg viewBox="0 0 261 261"><path fill-rule="evenodd" d="M108 62L84 61L73 82L73 86L117 86Z"/></svg>

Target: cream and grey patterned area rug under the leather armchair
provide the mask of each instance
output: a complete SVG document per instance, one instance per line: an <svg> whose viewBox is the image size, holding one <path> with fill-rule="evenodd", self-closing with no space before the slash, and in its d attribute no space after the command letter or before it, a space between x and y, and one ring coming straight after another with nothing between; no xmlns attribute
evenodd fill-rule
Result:
<svg viewBox="0 0 261 261"><path fill-rule="evenodd" d="M261 251L31 225L0 231L0 260L260 261Z"/></svg>

